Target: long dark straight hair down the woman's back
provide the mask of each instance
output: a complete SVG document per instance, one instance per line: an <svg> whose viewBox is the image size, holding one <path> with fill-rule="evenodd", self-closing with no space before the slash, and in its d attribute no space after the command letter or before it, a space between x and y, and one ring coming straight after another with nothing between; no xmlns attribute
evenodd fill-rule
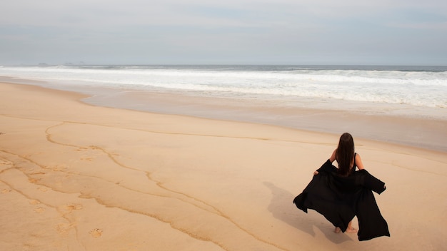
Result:
<svg viewBox="0 0 447 251"><path fill-rule="evenodd" d="M354 158L354 140L349 133L343 133L338 141L336 150L336 160L338 163L338 173L346 176L351 169Z"/></svg>

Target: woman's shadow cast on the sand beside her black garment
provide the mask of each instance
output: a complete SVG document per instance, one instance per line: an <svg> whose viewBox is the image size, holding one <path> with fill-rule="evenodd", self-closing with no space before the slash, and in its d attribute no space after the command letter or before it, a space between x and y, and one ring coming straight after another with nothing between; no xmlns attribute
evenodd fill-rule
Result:
<svg viewBox="0 0 447 251"><path fill-rule="evenodd" d="M268 211L270 211L276 219L286 222L288 225L291 225L302 232L306 232L313 237L315 237L313 227L318 227L328 240L336 244L352 241L353 238L357 237L356 235L350 237L343 233L336 234L333 232L334 227L331 222L328 222L323 215L318 218L309 217L310 213L306 214L296 208L296 205L293 204L293 198L298 194L292 195L290 192L278 188L276 185L269 182L264 182L263 184L271 190L272 198L270 205L268 205Z"/></svg>

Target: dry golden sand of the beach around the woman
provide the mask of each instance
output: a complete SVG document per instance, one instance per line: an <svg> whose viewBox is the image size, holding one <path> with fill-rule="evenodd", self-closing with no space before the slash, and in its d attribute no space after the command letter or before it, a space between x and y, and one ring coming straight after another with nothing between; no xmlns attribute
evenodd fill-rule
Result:
<svg viewBox="0 0 447 251"><path fill-rule="evenodd" d="M356 138L391 232L359 242L292 203L339 135L80 98L0 84L0 250L447 247L445 152Z"/></svg>

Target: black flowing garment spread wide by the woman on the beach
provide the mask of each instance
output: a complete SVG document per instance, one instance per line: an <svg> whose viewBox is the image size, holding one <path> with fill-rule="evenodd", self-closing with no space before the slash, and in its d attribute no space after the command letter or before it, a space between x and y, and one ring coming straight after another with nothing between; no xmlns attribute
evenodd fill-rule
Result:
<svg viewBox="0 0 447 251"><path fill-rule="evenodd" d="M355 165L347 177L338 175L337 170L327 160L317 170L318 175L313 176L303 193L293 200L296 207L304 212L308 209L316 210L343 232L357 215L358 240L390 236L388 224L372 193L374 191L381 194L386 189L385 183L364 169L355 171Z"/></svg>

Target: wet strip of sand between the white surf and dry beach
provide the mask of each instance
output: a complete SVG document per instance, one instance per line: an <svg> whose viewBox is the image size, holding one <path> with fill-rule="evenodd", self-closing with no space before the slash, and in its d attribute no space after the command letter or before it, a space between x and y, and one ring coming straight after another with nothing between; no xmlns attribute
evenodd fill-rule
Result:
<svg viewBox="0 0 447 251"><path fill-rule="evenodd" d="M447 152L447 121L433 118L378 115L363 111L324 110L318 108L281 107L266 101L243 101L231 98L207 98L155 91L115 90L106 88L71 88L54 83L0 77L0 81L31 84L61 91L84 93L81 101L94 106L124 108L134 111L193 116L226 121L261 123L316 133L354 138Z"/></svg>

